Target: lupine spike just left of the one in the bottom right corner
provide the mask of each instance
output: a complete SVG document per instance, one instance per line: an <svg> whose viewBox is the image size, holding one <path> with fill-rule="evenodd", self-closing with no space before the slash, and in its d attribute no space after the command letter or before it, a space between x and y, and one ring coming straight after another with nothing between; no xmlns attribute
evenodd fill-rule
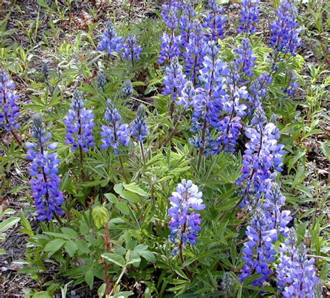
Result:
<svg viewBox="0 0 330 298"><path fill-rule="evenodd" d="M239 280L243 281L252 274L261 274L251 283L258 286L269 279L272 274L269 262L276 260L274 242L277 240L277 231L273 228L272 219L262 209L256 209L251 223L246 228L246 236L248 241L244 243L242 258L245 265L241 269Z"/></svg>

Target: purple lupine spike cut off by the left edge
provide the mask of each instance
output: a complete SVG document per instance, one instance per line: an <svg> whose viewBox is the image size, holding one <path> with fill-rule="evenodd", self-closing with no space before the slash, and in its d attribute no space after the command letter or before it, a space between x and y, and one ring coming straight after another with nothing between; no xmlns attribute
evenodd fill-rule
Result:
<svg viewBox="0 0 330 298"><path fill-rule="evenodd" d="M14 82L8 73L0 68L0 128L5 127L7 132L19 129L18 99Z"/></svg>

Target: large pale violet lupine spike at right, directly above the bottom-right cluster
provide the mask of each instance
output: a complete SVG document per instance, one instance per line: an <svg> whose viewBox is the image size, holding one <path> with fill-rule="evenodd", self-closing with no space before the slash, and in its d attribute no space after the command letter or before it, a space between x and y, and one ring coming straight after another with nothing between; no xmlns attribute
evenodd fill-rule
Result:
<svg viewBox="0 0 330 298"><path fill-rule="evenodd" d="M240 187L241 207L251 200L258 202L267 191L267 183L276 178L275 171L282 171L284 146L278 144L281 136L274 123L267 123L265 112L258 107L252 118L253 127L246 129L249 142L243 155L242 175L236 181Z"/></svg>

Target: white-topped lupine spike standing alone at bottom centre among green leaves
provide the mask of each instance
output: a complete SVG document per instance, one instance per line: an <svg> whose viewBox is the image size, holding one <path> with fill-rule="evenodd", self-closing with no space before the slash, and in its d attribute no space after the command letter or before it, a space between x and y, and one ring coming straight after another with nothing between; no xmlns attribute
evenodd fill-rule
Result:
<svg viewBox="0 0 330 298"><path fill-rule="evenodd" d="M202 196L197 185L194 185L191 180L186 181L185 179L182 179L176 187L176 191L172 193L171 207L168 208L171 220L168 222L168 226L171 231L169 238L177 246L172 252L174 256L178 251L182 251L188 242L196 245L198 232L201 230L201 214L195 211L205 209Z"/></svg>

